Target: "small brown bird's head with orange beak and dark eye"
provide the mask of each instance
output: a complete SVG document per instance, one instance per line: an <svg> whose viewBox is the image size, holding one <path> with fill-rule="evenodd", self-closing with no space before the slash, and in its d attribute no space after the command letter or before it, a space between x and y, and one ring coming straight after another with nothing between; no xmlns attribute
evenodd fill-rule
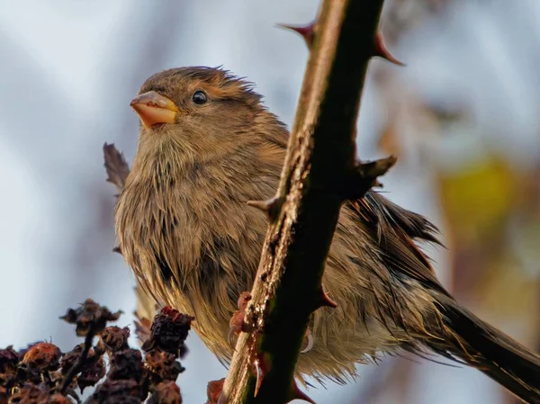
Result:
<svg viewBox="0 0 540 404"><path fill-rule="evenodd" d="M197 163L227 155L253 142L257 127L283 127L261 98L253 85L221 68L157 73L130 103L140 119L139 150L170 149L176 159Z"/></svg>

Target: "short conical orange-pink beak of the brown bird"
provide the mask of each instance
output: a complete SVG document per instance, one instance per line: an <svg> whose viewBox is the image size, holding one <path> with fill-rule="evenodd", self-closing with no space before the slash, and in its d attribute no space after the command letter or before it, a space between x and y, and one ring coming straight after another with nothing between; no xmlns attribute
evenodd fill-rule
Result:
<svg viewBox="0 0 540 404"><path fill-rule="evenodd" d="M137 95L131 100L130 107L137 112L147 129L157 123L173 123L178 113L175 103L155 91Z"/></svg>

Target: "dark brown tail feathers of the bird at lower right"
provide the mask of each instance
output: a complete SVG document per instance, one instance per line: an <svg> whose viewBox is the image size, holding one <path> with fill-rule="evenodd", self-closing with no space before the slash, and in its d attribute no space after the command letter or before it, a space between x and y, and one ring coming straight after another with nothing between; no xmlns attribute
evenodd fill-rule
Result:
<svg viewBox="0 0 540 404"><path fill-rule="evenodd" d="M428 346L477 368L519 399L540 404L540 357L451 298L439 296L437 301L448 335Z"/></svg>

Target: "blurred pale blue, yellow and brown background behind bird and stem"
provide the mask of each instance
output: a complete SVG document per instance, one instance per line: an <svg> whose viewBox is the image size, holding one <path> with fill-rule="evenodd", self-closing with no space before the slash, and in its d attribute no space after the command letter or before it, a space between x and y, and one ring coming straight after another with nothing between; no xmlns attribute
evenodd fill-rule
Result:
<svg viewBox="0 0 540 404"><path fill-rule="evenodd" d="M311 22L319 1L0 0L0 346L81 342L58 320L87 297L132 324L134 279L112 253L115 189L102 146L130 161L130 99L185 65L247 76L290 124L307 49L276 23ZM394 153L385 195L434 220L429 251L455 297L540 350L540 3L387 0L383 34L407 67L375 59L359 155ZM186 403L226 373L192 334ZM319 403L517 403L482 373L419 358L362 366L311 389Z"/></svg>

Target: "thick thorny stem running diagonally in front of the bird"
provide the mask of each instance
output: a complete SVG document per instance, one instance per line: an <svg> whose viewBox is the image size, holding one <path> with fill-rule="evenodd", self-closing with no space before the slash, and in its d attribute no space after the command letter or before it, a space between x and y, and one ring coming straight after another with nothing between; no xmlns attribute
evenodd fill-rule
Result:
<svg viewBox="0 0 540 404"><path fill-rule="evenodd" d="M382 9L383 0L324 0L312 31L295 29L311 56L276 197L258 203L270 226L246 310L250 332L238 337L222 403L307 399L293 372L311 313L329 304L321 279L341 205L362 197L395 162L356 159L368 62L392 59L378 33Z"/></svg>

